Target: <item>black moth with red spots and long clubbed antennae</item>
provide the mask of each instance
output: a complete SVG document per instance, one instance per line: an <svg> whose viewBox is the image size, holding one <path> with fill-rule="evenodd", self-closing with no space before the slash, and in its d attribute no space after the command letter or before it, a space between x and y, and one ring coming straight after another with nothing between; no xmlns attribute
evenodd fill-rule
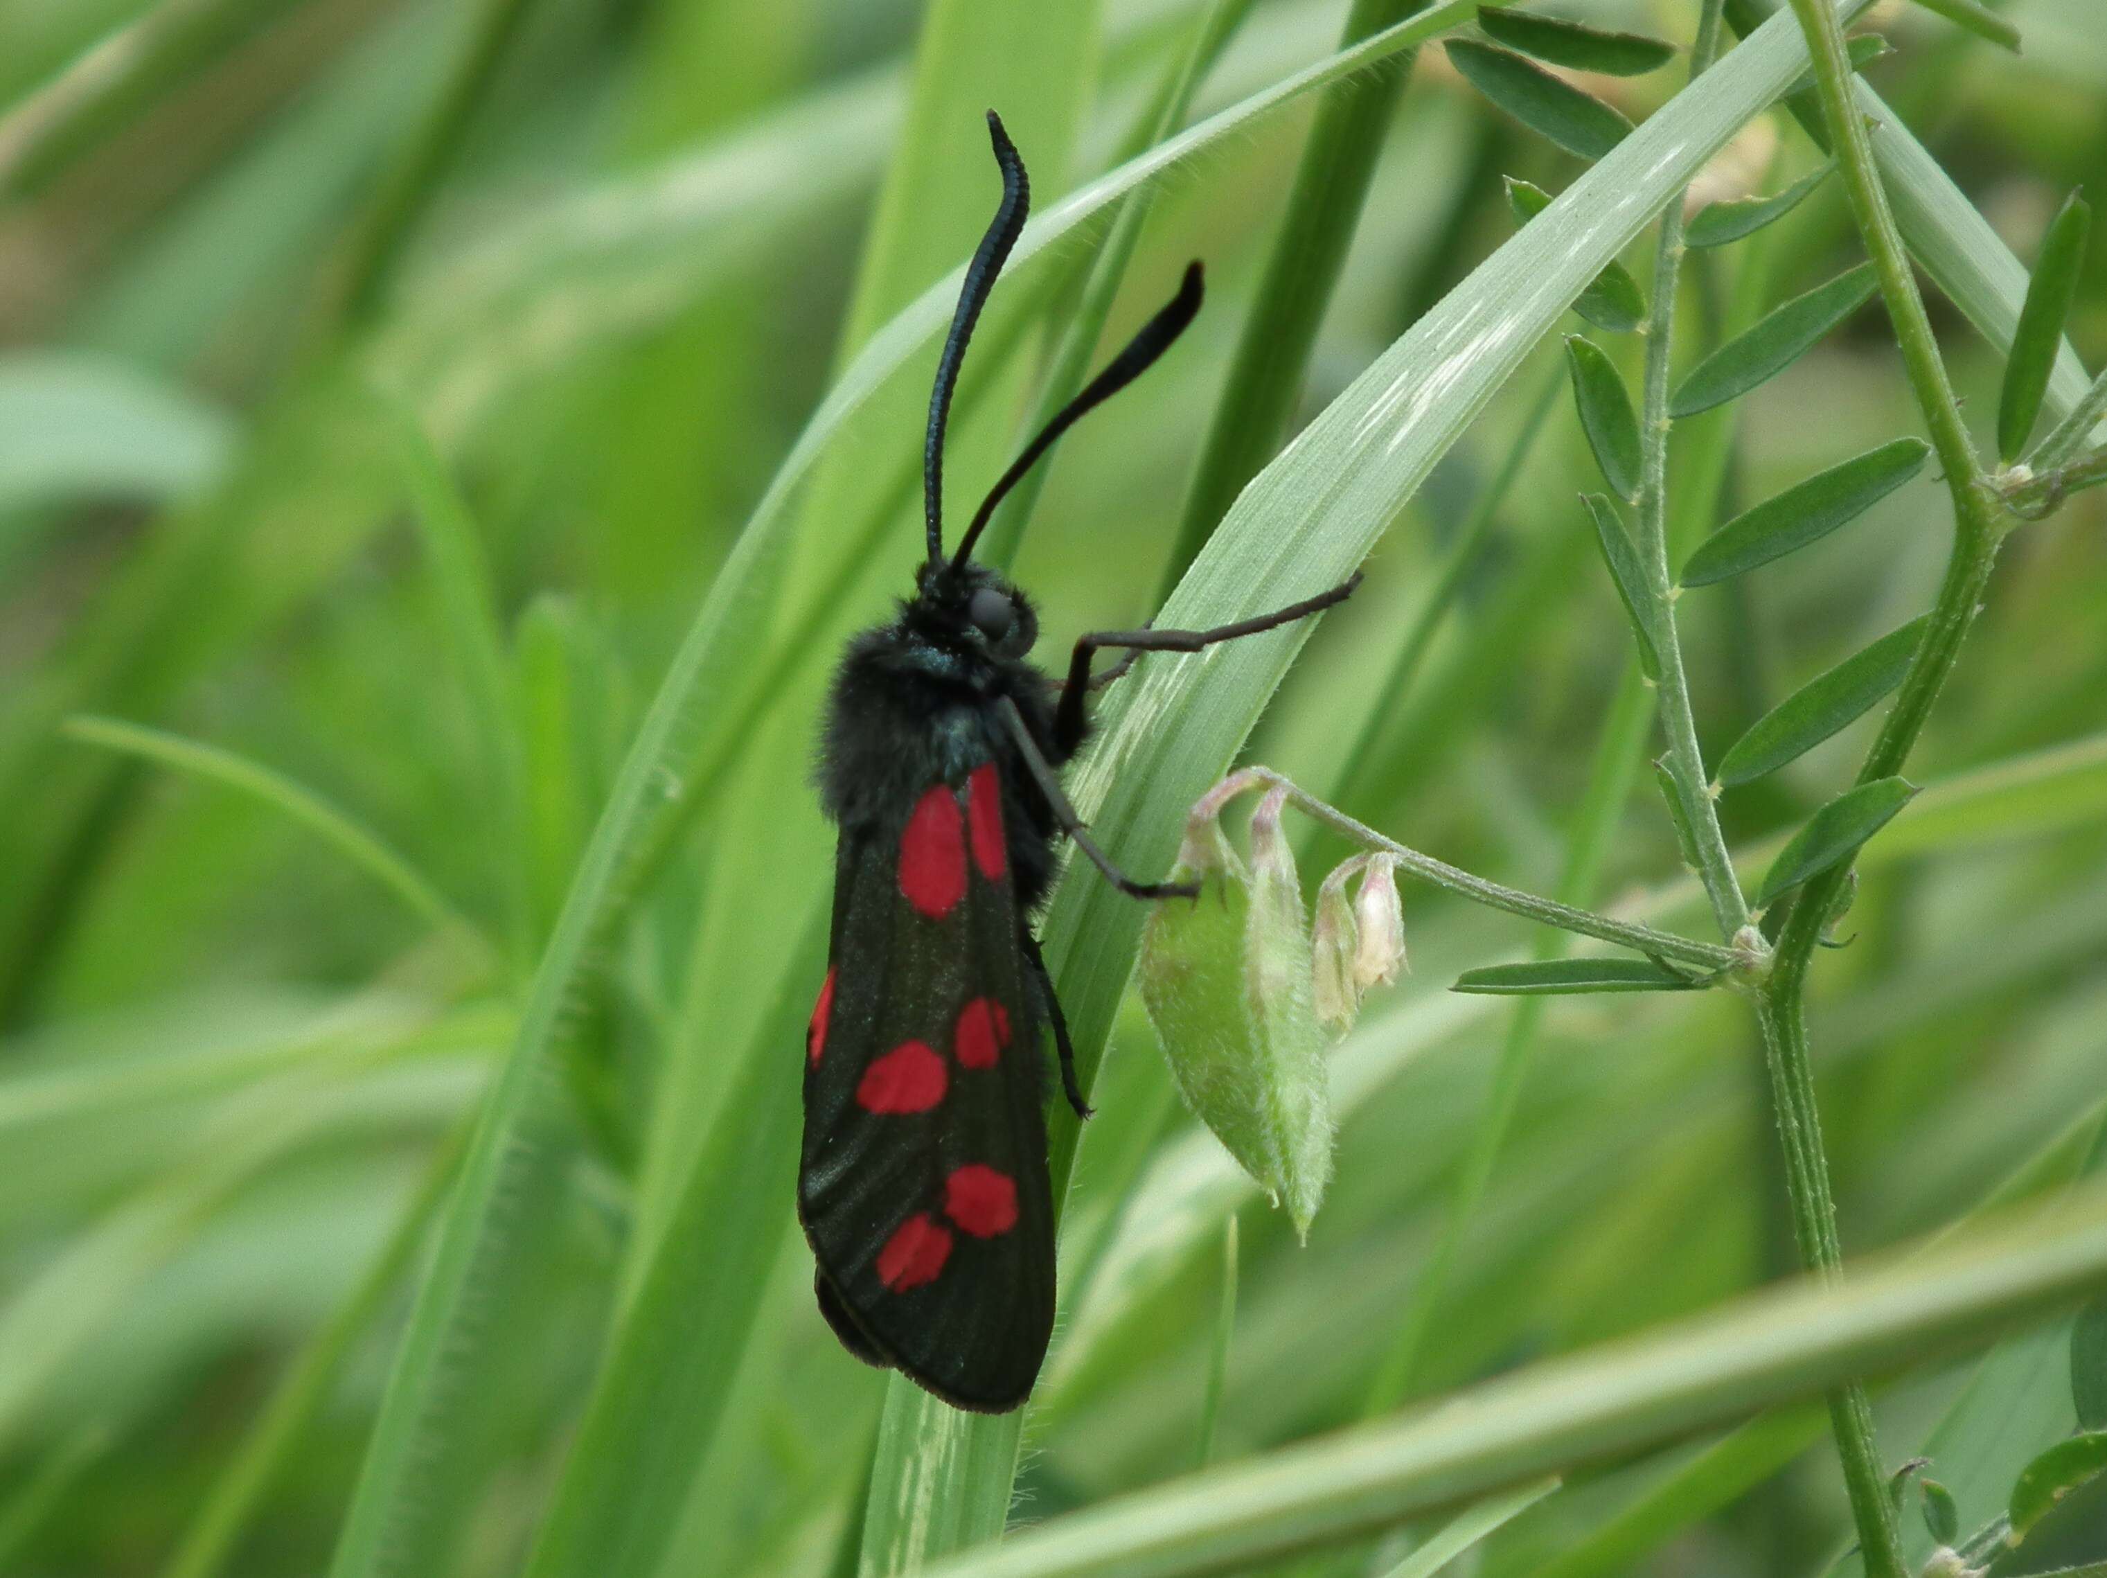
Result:
<svg viewBox="0 0 2107 1578"><path fill-rule="evenodd" d="M944 421L959 362L1009 257L1030 190L988 112L1003 200L965 272L923 449L929 558L900 615L849 643L828 702L820 796L841 828L826 982L805 1037L799 1220L820 1310L858 1359L957 1407L1018 1407L1054 1329L1045 1053L1089 1117L1032 912L1066 832L1125 893L1060 788L1089 731L1085 699L1140 651L1197 651L1325 609L1353 581L1220 630L1117 630L1075 645L1066 685L1026 659L1030 600L976 565L995 506L1085 411L1148 369L1199 312L1201 270L1035 436L944 556ZM1091 678L1091 655L1127 657Z"/></svg>

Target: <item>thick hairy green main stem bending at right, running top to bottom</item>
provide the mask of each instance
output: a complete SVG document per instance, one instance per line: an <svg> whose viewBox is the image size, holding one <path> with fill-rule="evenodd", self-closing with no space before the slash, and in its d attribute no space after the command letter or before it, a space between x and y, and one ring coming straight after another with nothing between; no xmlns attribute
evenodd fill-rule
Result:
<svg viewBox="0 0 2107 1578"><path fill-rule="evenodd" d="M1945 468L1953 495L1953 556L1947 563L1938 600L1932 607L1924 645L1903 678L1894 708L1882 723L1858 782L1898 773L1911 746L1930 716L1947 674L1960 655L1968 626L1974 622L1983 588L1997 554L2000 522L1983 489L1981 461L1968 430L1962 426L1953 388L1947 381L1938 341L1924 314L1924 299L1909 268L1909 255L1888 209L1888 194L1873 164L1873 147L1865 118L1856 110L1850 59L1844 53L1844 29L1825 0L1791 0L1793 17L1808 40L1814 61L1814 88L1823 105L1823 122L1835 147L1850 194L1852 217L1865 240L1867 257L1879 280L1879 295L1894 322L1903 367ZM1835 1277L1842 1247L1835 1230L1835 1203L1829 1190L1829 1169L1823 1157L1820 1115L1814 1104L1814 1077L1808 1066L1806 980L1814 946L1844 883L1850 864L1844 862L1808 887L1778 933L1770 980L1757 1005L1764 1026L1764 1047L1770 1058L1776 1091L1778 1129L1785 1140L1787 1178L1793 1192L1793 1230L1799 1254L1810 1268ZM1873 1416L1863 1386L1844 1386L1829 1395L1829 1416L1844 1460L1844 1483L1850 1492L1852 1517L1865 1551L1869 1578L1905 1578L1907 1565L1894 1508L1886 1496L1879 1447L1873 1439Z"/></svg>

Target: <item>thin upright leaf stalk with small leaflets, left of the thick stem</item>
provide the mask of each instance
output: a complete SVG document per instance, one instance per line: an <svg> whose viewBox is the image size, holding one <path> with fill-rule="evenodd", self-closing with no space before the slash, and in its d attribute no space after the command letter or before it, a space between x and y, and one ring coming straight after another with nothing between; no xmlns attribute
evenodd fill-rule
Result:
<svg viewBox="0 0 2107 1578"><path fill-rule="evenodd" d="M1690 80L1696 82L1719 53L1721 0L1705 0L1698 36L1690 51ZM1683 265L1683 194L1660 211L1660 242L1654 251L1654 301L1646 322L1646 394L1641 415L1639 558L1652 577L1654 622L1660 632L1660 731L1669 750L1665 765L1683 824L1698 857L1698 879L1711 900L1721 938L1749 925L1749 900L1734 876L1734 860L1719 830L1719 813L1705 788L1705 752L1698 748L1696 712L1690 706L1690 674L1675 632L1675 588L1669 577L1669 364L1675 354L1675 287Z"/></svg>

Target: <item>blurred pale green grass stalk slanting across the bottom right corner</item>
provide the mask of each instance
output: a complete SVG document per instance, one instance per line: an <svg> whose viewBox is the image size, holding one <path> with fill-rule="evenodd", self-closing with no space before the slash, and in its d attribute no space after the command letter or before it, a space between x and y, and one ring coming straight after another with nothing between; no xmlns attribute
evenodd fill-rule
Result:
<svg viewBox="0 0 2107 1578"><path fill-rule="evenodd" d="M1854 1266L1842 1287L1795 1283L1745 1298L1488 1382L1450 1407L1041 1523L929 1578L1176 1578L1262 1565L1894 1369L2103 1281L2107 1205L2090 1190L1903 1266Z"/></svg>

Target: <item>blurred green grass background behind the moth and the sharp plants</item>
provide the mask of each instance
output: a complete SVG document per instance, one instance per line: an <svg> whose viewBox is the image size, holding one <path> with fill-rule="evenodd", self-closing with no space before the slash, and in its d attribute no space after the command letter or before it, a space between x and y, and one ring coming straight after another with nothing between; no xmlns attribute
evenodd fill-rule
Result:
<svg viewBox="0 0 2107 1578"><path fill-rule="evenodd" d="M995 200L978 112L1003 112L1047 209L1119 162L1199 15L1024 11L0 0L0 1572L331 1561L457 1136L742 525L851 354L969 251ZM1675 40L1694 19L1681 0L1568 11ZM1321 59L1344 13L1260 0L1193 118ZM2107 188L2107 27L2096 0L2004 13L2019 57L1913 6L1863 25L1896 46L1869 80L2031 259L2069 188ZM1669 78L1589 86L1637 120ZM1148 215L1106 343L1188 257L1209 265L1209 303L1051 468L1016 558L1043 651L1157 603L1308 114L1300 99L1220 139ZM1439 48L1386 126L1304 415L1509 238L1502 175L1557 192L1580 169L1473 97ZM430 147L442 158L419 171ZM1774 112L1702 190L1774 190L1814 162ZM957 497L1018 440L1098 238L1058 242L999 293L961 396ZM1633 249L1641 278L1648 259ZM1692 255L1688 335L1717 337L1749 268L1766 270L1757 299L1778 299L1854 261L1829 183L1766 232L1759 263ZM1932 312L1987 432L2002 358L1936 295ZM2096 367L2107 249L2071 331ZM1633 346L1616 354L1635 377ZM442 1559L419 1572L520 1570L645 1249L708 1216L687 1192L697 1157L725 1211L744 1201L723 1266L752 1308L733 1348L718 1327L697 1336L718 1344L704 1359L725 1390L659 1502L655 1570L853 1572L885 1382L811 1306L786 1152L763 1144L794 1133L794 1093L754 1060L794 1066L818 984L832 866L809 739L841 636L908 590L931 362L919 352L822 455L737 662L689 721L721 735L693 780L666 784L689 809L615 874L619 925L594 931L554 1007L563 1079L533 1098L518 1173L529 1230L478 1353L455 1355L476 1403L421 1487L419 1538ZM1574 501L1597 480L1561 377L1551 335L1391 525L1247 750L1538 891L1559 881L1627 662ZM1860 314L1738 407L1721 518L1917 426L1884 318ZM1391 689L1523 432L1517 482ZM2103 1093L2101 497L2008 546L1911 769L1947 796L1873 847L1844 927L1856 942L1818 967L1852 1254L1974 1207ZM1928 607L1947 537L1924 476L1850 533L1686 598L1707 748ZM223 754L67 727L80 714ZM1865 737L1730 792L1730 841L1804 820ZM141 744L158 754L112 750ZM240 777L253 769L268 777ZM1614 828L1606 902L1675 883L1643 773ZM1338 853L1311 841L1306 864ZM1064 1294L1020 1517L1193 1464L1233 1211L1214 1454L1361 1414L1513 1018L1443 988L1532 942L1424 889L1405 902L1414 975L1338 1051L1338 1182L1306 1247L1178 1115L1123 1009L1064 1237L1064 1277L1091 1273ZM1766 1100L1726 994L1555 1007L1407 1390L1785 1275ZM1943 1462L1987 1464L1976 1494L1993 1498L2000 1466L2008 1483L2071 1428L2067 1374L2042 1359L2059 1340L2000 1350L2010 1378L1974 1416L1949 1412L1966 1365L1884 1393L1890 1458L1945 1431ZM1673 1490L1614 1544L1679 1462L1574 1483L1502 1530L1481 1572L1799 1574L1839 1549L1818 1431Z"/></svg>

